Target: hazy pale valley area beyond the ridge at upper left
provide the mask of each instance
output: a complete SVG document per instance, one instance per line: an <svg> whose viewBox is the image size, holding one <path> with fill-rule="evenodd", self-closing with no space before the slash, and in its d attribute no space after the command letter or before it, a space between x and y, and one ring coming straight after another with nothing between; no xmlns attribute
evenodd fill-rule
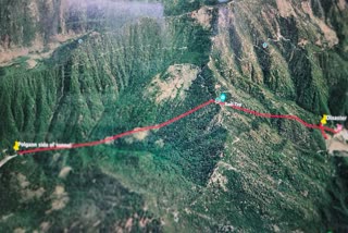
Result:
<svg viewBox="0 0 348 233"><path fill-rule="evenodd" d="M139 16L163 14L159 3L128 0L16 0L3 2L0 11L1 66L18 57L52 51L87 32L120 28Z"/></svg>

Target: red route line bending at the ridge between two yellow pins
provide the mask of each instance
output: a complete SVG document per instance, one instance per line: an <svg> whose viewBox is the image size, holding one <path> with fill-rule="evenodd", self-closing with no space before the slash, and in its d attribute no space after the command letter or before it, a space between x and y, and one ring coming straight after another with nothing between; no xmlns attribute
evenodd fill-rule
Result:
<svg viewBox="0 0 348 233"><path fill-rule="evenodd" d="M51 151L51 150L63 150L63 149L72 149L72 148L80 148L80 147L90 147L90 146L96 146L96 145L100 145L100 144L105 144L108 142L111 142L111 140L115 140L115 139L119 139L121 137L124 137L124 136L127 136L127 135L132 135L132 134L135 134L135 133L138 133L138 132L144 132L144 131L149 131L149 130L156 130L156 128L161 128L161 127L164 127L169 124L172 124L183 118L186 118L187 115L204 108L206 106L209 106L210 103L213 103L215 102L215 100L211 99L202 105L199 105L197 106L196 108L176 116L176 118L173 118L169 121L165 121L161 124L156 124L156 125L151 125L151 126L146 126L146 127L139 127L139 128L136 128L136 130L133 130L133 131L127 131L127 132L124 132L124 133L121 133L121 134L116 134L114 136L111 136L111 137L105 137L103 139L100 139L100 140L95 140L95 142L90 142L90 143L80 143L80 144L72 144L72 146L70 147L45 147L45 148L35 148L35 149L28 149L28 150L21 150L18 151L17 154L18 155L25 155L25 154L33 154L33 152L41 152L41 151ZM219 105L221 106L226 106L224 102L217 102ZM336 132L335 130L333 128L330 128L330 127L325 127L323 125L315 125L315 124L309 124L307 122L304 122L303 120L301 120L300 118L296 116L296 115L277 115L277 114L270 114L270 113L261 113L261 112L257 112L257 111L253 111L253 110L250 110L250 109L245 109L245 108L241 108L241 107L237 107L237 106L229 106L231 108L233 109L236 109L236 110L239 110L239 111L243 111L243 112L246 112L246 113L249 113L249 114L253 114L253 115L257 115L257 116L261 116L261 118L272 118L272 119L289 119L289 120L295 120L295 121L298 121L299 123L301 123L302 125L304 125L306 127L310 127L310 128L318 128L318 130L321 130L321 132L323 133L323 136L326 137L325 135L325 131L328 131L333 134L336 134L338 132Z"/></svg>

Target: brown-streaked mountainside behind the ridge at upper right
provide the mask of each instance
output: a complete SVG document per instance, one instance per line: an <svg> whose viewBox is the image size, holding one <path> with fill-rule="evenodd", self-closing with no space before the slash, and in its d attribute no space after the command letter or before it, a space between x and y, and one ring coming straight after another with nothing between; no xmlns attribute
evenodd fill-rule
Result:
<svg viewBox="0 0 348 233"><path fill-rule="evenodd" d="M343 5L291 0L222 4L214 16L209 65L247 91L265 85L306 110L327 112L327 102L333 102L331 94L347 84L334 69L340 64L339 70L347 72L348 11ZM209 19L199 17L203 10L194 14L201 24ZM330 108L344 114L348 111L346 97L339 98L339 105Z"/></svg>

